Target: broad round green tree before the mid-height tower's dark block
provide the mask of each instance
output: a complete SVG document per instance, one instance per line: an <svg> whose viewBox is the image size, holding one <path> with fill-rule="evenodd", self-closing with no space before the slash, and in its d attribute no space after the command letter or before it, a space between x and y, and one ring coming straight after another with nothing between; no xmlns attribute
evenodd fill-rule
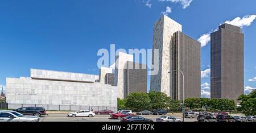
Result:
<svg viewBox="0 0 256 133"><path fill-rule="evenodd" d="M151 100L147 93L133 92L127 96L126 107L134 111L150 109Z"/></svg>

